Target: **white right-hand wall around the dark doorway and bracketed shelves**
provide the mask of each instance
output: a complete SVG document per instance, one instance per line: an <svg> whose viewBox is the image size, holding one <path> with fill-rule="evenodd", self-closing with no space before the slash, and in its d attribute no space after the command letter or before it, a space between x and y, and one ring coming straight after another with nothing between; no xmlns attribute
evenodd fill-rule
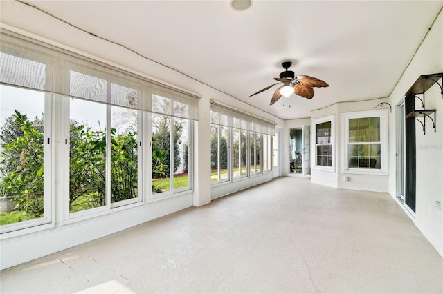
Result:
<svg viewBox="0 0 443 294"><path fill-rule="evenodd" d="M410 62L408 68L399 79L392 91L389 102L393 106L392 113L397 114L397 106L404 99L405 93L420 75L443 72L443 14L435 21L422 45ZM442 79L439 81L442 84ZM417 144L417 183L416 211L411 216L413 222L435 249L443 256L443 97L440 88L434 85L425 93L427 109L436 111L436 132L431 127L431 120L426 119L426 135L422 125L416 121ZM420 109L417 99L415 107ZM390 175L389 193L397 195L396 173L396 115L390 116ZM422 119L423 120L423 119ZM440 208L436 202L440 202Z"/></svg>

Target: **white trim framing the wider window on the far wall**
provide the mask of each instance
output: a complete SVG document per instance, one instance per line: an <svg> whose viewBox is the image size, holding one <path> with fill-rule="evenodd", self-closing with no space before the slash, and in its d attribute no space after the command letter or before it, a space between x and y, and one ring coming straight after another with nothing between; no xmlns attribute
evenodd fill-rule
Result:
<svg viewBox="0 0 443 294"><path fill-rule="evenodd" d="M342 138L343 138L343 173L359 174L359 175L388 175L389 173L389 149L388 149L388 109L368 110L358 112L345 112L342 117ZM380 169L371 168L350 168L347 144L349 143L349 120L366 117L380 117L380 145L381 145L381 166Z"/></svg>

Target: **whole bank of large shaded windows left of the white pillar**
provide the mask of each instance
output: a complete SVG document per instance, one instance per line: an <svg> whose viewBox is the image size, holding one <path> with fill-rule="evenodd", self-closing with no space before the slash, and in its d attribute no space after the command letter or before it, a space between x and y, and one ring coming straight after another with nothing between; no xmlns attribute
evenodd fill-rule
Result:
<svg viewBox="0 0 443 294"><path fill-rule="evenodd" d="M0 35L0 193L7 198L0 199L0 233L17 231L5 235L14 237L142 204L152 196L151 151L167 192L155 195L191 189L199 97L16 33ZM152 144L152 133L163 145Z"/></svg>

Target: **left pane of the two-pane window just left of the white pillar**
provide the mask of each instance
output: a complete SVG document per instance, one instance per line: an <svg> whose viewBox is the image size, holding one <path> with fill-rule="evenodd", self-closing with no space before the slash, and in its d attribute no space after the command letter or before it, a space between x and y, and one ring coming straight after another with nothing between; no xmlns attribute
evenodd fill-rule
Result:
<svg viewBox="0 0 443 294"><path fill-rule="evenodd" d="M152 115L152 190L154 193L171 190L170 182L171 118Z"/></svg>

